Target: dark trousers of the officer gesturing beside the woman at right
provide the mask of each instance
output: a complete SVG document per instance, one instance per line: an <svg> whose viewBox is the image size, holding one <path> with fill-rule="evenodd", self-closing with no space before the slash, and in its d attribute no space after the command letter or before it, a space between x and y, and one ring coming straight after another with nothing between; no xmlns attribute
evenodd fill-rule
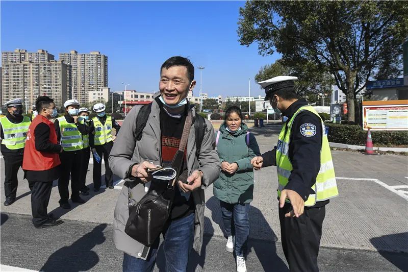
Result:
<svg viewBox="0 0 408 272"><path fill-rule="evenodd" d="M319 254L322 225L326 207L305 207L304 213L296 217L285 217L292 210L290 203L279 208L281 222L282 248L290 271L319 271L317 255Z"/></svg>

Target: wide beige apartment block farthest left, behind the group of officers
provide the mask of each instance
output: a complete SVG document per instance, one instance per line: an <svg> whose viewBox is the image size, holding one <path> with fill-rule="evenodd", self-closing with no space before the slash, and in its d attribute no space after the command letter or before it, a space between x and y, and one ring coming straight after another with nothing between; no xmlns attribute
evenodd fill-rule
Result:
<svg viewBox="0 0 408 272"><path fill-rule="evenodd" d="M24 61L2 64L2 102L23 98L27 109L40 95L54 99L57 107L67 100L67 69L62 61L44 63ZM24 105L24 112L25 112Z"/></svg>

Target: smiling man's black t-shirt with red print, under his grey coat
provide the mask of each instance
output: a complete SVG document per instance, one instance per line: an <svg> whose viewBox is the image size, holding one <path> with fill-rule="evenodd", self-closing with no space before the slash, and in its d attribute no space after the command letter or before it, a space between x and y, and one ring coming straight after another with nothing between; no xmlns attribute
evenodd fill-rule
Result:
<svg viewBox="0 0 408 272"><path fill-rule="evenodd" d="M163 109L162 103L160 106L160 130L161 130L161 143L162 143L162 162L163 166L169 166L173 160L174 155L177 150L179 150L180 141L183 134L184 123L187 117L187 106L186 111L181 118L171 117ZM187 148L186 148L187 149ZM179 180L184 181L188 177L187 161L186 161L186 151L184 152L184 159L182 165L182 173ZM163 182L167 186L167 183ZM190 215L194 212L194 202L191 193L186 196L182 195L179 186L174 187L174 201L170 214L171 219L178 219Z"/></svg>

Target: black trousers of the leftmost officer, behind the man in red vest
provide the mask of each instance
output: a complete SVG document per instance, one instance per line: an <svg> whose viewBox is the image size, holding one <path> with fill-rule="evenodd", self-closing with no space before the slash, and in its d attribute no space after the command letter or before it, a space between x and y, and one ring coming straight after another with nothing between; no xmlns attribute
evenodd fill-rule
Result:
<svg viewBox="0 0 408 272"><path fill-rule="evenodd" d="M22 166L22 155L6 155L4 156L4 193L7 197L16 198L17 194L17 172ZM31 189L31 188L30 188Z"/></svg>

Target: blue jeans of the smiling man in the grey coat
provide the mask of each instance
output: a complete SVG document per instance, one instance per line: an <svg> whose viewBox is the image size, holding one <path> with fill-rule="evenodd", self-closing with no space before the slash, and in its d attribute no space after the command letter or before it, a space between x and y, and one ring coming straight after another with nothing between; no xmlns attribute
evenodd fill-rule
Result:
<svg viewBox="0 0 408 272"><path fill-rule="evenodd" d="M181 219L170 221L163 231L163 250L166 258L166 272L182 272L187 270L188 257L194 238L194 213ZM131 239L131 238L129 238ZM123 272L150 272L156 264L160 237L150 246L146 260L124 253Z"/></svg>

